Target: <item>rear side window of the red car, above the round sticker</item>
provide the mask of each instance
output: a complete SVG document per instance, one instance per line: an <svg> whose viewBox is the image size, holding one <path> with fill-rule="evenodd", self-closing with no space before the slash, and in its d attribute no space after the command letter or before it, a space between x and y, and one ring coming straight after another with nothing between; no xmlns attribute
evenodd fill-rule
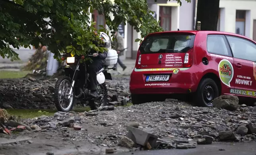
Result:
<svg viewBox="0 0 256 155"><path fill-rule="evenodd" d="M207 36L207 51L217 55L232 56L228 50L228 44L223 35L211 34Z"/></svg>

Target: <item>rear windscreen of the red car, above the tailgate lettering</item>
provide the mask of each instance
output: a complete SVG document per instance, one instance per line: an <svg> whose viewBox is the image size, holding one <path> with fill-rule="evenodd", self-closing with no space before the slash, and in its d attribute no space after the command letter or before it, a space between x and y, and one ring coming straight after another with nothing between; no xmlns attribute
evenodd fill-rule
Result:
<svg viewBox="0 0 256 155"><path fill-rule="evenodd" d="M153 34L140 46L143 53L184 53L194 45L195 34Z"/></svg>

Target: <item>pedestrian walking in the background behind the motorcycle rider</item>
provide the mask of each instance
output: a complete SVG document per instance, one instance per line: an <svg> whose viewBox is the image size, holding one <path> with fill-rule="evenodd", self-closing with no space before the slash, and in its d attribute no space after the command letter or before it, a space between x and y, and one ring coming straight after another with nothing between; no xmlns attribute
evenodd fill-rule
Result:
<svg viewBox="0 0 256 155"><path fill-rule="evenodd" d="M118 32L115 33L115 36L116 36L116 40L114 40L114 50L116 50L118 54L118 59L116 64L114 64L114 67L116 67L116 70L117 70L117 63L118 63L123 68L123 71L124 71L126 69L126 65L119 58L121 55L124 55L123 52L120 52L120 50L124 49L123 37Z"/></svg>

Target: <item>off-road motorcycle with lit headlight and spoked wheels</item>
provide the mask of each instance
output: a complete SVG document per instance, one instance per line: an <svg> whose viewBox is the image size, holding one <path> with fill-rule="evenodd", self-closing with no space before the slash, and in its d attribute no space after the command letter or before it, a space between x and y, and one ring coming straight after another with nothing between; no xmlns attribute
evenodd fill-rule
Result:
<svg viewBox="0 0 256 155"><path fill-rule="evenodd" d="M108 105L105 79L112 80L111 74L108 71L110 69L115 70L116 68L108 68L110 65L107 64L96 73L98 96L97 98L93 98L89 96L88 64L82 62L85 57L93 57L93 55L75 55L74 57L64 55L62 57L62 60L66 59L66 65L61 66L58 70L64 70L64 76L56 81L54 88L54 102L58 111L69 112L76 102L83 103L83 106L89 105L92 110Z"/></svg>

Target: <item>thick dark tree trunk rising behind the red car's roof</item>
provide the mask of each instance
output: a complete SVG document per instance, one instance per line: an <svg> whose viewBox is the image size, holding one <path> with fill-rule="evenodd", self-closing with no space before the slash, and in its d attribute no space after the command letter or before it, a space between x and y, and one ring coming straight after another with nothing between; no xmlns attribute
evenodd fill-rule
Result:
<svg viewBox="0 0 256 155"><path fill-rule="evenodd" d="M219 17L219 0L198 0L196 23L201 22L201 30L216 31ZM197 28L196 28L197 29Z"/></svg>

